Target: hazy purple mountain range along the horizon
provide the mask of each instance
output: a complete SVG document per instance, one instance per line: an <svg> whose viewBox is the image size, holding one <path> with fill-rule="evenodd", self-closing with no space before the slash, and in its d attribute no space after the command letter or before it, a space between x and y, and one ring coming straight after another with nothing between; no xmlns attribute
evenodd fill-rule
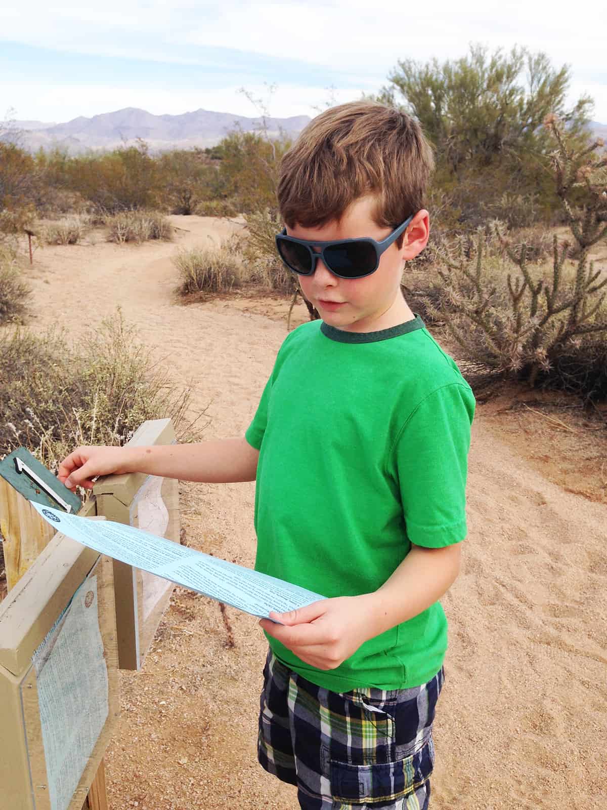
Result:
<svg viewBox="0 0 607 810"><path fill-rule="evenodd" d="M308 121L310 117L307 115L268 117L265 119L265 126L270 137L277 136L281 131L296 135ZM11 122L11 128L4 133L4 137L16 137L19 145L29 151L36 151L40 147L62 147L70 154L79 154L88 149L112 149L135 143L141 138L151 151L158 152L174 148L212 147L235 127L244 132L253 132L260 130L262 126L261 117L248 118L232 113L214 113L206 109L180 115L152 115L145 109L126 107L92 118L79 116L65 123ZM607 124L593 121L590 126L596 137L607 141Z"/></svg>

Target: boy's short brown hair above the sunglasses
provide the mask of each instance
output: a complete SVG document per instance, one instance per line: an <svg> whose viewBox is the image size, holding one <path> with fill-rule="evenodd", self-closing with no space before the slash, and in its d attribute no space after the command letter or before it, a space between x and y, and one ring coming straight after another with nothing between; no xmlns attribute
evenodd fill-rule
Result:
<svg viewBox="0 0 607 810"><path fill-rule="evenodd" d="M278 207L289 228L316 228L373 194L373 220L395 228L423 207L433 168L430 144L406 113L374 101L339 104L313 118L282 157Z"/></svg>

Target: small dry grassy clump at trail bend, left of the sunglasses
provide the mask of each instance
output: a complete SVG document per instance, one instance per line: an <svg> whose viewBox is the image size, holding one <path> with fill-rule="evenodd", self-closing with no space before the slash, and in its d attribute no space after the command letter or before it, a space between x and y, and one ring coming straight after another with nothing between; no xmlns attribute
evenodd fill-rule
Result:
<svg viewBox="0 0 607 810"><path fill-rule="evenodd" d="M222 242L210 247L181 250L173 263L180 273L177 292L227 292L240 287L243 263L233 246Z"/></svg>

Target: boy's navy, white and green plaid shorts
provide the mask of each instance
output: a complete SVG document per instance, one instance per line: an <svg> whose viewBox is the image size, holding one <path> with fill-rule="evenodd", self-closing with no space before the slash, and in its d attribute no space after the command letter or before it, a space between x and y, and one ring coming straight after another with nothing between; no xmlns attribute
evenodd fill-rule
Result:
<svg viewBox="0 0 607 810"><path fill-rule="evenodd" d="M443 682L441 669L412 689L331 692L269 650L257 757L297 787L304 810L427 810L432 722Z"/></svg>

